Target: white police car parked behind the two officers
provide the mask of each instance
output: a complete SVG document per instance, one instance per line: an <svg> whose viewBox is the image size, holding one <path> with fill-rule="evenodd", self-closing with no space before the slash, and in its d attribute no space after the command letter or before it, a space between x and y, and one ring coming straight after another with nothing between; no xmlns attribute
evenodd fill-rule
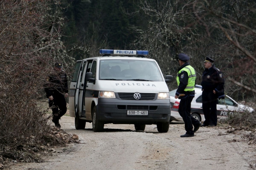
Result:
<svg viewBox="0 0 256 170"><path fill-rule="evenodd" d="M176 91L177 89L170 91L170 102L172 105L170 122L173 120L183 122L183 119L178 112L180 99L175 99ZM195 85L195 97L191 102L191 114L195 119L199 120L200 122L203 122L205 118L204 118L204 112L202 109L201 96L202 96L202 86ZM218 99L218 104L217 104L218 118L224 118L229 116L230 114L233 114L234 112L243 112L243 111L252 112L253 108L247 107L245 105L241 105L227 95L225 95L224 99Z"/></svg>

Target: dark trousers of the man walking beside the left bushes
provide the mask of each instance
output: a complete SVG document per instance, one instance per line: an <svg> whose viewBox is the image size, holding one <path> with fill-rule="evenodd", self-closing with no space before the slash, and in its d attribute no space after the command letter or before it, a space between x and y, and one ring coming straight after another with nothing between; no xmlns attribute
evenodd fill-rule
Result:
<svg viewBox="0 0 256 170"><path fill-rule="evenodd" d="M49 107L52 109L52 122L57 124L61 116L67 112L67 102L63 94L52 94L53 101L49 100Z"/></svg>

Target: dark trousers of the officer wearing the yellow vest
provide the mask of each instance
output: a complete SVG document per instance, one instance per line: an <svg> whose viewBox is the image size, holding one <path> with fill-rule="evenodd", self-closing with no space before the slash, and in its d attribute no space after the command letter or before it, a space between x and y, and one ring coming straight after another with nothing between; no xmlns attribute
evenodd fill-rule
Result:
<svg viewBox="0 0 256 170"><path fill-rule="evenodd" d="M187 96L184 99L180 99L179 113L185 123L186 134L194 134L193 125L198 125L200 122L191 116L191 102L194 96Z"/></svg>

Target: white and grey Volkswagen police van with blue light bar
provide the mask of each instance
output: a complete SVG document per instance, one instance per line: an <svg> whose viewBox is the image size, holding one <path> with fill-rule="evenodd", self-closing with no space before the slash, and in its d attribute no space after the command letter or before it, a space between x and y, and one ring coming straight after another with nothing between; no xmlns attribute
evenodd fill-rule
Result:
<svg viewBox="0 0 256 170"><path fill-rule="evenodd" d="M76 129L92 122L93 131L104 125L134 124L135 130L157 125L168 132L171 104L159 65L148 59L148 51L100 50L102 57L76 62L70 83L70 116ZM122 56L122 57L121 57Z"/></svg>

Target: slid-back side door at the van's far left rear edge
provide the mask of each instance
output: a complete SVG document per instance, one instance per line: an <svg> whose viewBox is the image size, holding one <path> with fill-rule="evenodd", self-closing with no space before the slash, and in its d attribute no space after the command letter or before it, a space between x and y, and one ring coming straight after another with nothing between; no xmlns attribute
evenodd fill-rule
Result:
<svg viewBox="0 0 256 170"><path fill-rule="evenodd" d="M70 104L70 116L75 117L76 113L76 103L77 103L77 98L75 99L75 94L76 94L76 86L77 82L80 82L79 80L79 75L81 74L81 69L82 69L82 60L79 60L76 62L75 70L73 72L73 77L70 83L70 95L69 95L69 104Z"/></svg>

